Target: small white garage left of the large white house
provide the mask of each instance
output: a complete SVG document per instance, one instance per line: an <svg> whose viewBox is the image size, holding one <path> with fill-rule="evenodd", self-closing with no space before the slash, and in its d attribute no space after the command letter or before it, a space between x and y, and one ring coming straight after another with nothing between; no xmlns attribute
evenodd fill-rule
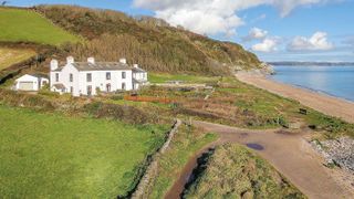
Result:
<svg viewBox="0 0 354 199"><path fill-rule="evenodd" d="M29 91L37 92L41 90L45 84L49 84L49 80L45 75L40 74L25 74L17 78L14 84L15 91Z"/></svg>

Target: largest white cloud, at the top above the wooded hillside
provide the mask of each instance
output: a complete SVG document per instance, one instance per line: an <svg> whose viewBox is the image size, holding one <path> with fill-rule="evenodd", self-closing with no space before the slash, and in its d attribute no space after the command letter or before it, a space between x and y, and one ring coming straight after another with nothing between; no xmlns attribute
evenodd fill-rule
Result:
<svg viewBox="0 0 354 199"><path fill-rule="evenodd" d="M288 15L299 6L311 6L329 0L134 0L135 7L153 10L173 25L183 25L201 34L230 34L244 24L237 15L241 10L269 4ZM337 1L337 0L333 0Z"/></svg>

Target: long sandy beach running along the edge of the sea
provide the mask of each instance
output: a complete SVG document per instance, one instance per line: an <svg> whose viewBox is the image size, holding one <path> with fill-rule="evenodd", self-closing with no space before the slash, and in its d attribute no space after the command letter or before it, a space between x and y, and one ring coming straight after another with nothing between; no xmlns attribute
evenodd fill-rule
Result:
<svg viewBox="0 0 354 199"><path fill-rule="evenodd" d="M236 77L283 97L299 101L301 104L330 116L340 117L345 122L354 123L354 103L310 90L279 83L267 76L253 73L238 73Z"/></svg>

